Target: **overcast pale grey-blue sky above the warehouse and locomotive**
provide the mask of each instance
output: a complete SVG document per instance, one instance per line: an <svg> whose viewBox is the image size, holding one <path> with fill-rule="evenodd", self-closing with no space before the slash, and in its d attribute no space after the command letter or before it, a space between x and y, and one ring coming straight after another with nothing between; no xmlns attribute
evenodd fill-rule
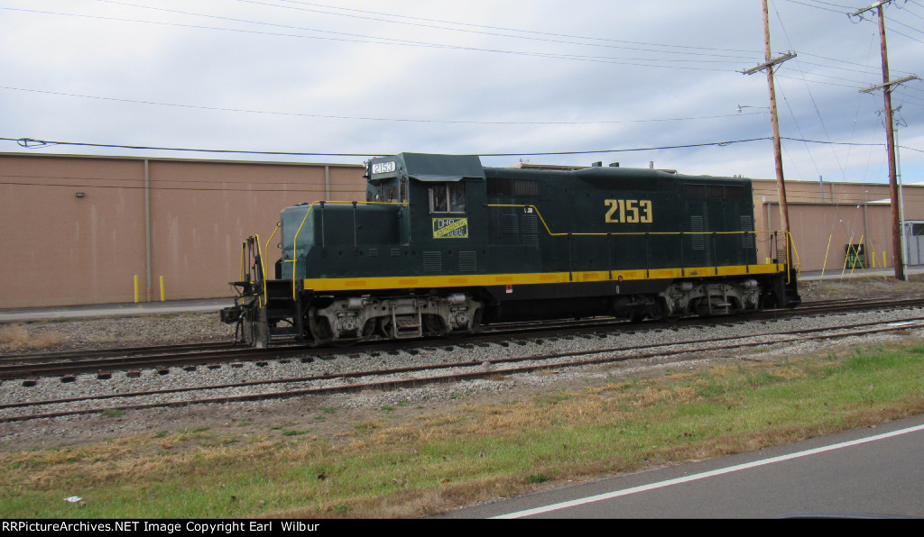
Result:
<svg viewBox="0 0 924 537"><path fill-rule="evenodd" d="M877 1L770 1L773 55L797 54L781 134L811 140L784 139L787 179L888 182L882 93L859 92L882 82L878 19L847 15ZM766 75L740 72L763 62L760 0L318 2L0 0L0 137L317 156L0 151L775 176L769 140L717 145L772 135ZM924 77L924 0L885 13L891 78ZM924 81L893 107L904 181L924 181Z"/></svg>

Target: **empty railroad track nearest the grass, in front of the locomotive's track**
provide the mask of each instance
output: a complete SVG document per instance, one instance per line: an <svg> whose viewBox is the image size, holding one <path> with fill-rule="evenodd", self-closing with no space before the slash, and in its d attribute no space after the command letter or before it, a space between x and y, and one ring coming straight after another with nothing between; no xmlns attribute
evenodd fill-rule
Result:
<svg viewBox="0 0 924 537"><path fill-rule="evenodd" d="M503 379L506 376L536 370L559 370L647 359L675 363L684 361L694 354L740 352L749 347L793 345L806 340L831 340L922 327L924 327L924 316L916 315L895 318L887 324L877 321L848 326L770 330L721 338L663 341L646 345L604 346L569 352L527 353L521 356L488 360L460 360L449 364L421 364L411 367L342 371L332 374L282 377L210 386L187 386L12 402L0 405L0 423L107 411L123 412L148 408L188 407L204 403L323 396L370 389L412 388L480 378ZM593 337L588 339L592 340Z"/></svg>

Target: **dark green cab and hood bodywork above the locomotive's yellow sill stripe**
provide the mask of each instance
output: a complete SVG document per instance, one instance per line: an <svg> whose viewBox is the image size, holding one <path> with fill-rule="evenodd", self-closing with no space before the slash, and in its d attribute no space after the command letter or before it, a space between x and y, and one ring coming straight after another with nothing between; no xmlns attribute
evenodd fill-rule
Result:
<svg viewBox="0 0 924 537"><path fill-rule="evenodd" d="M367 178L366 203L283 211L283 279L757 263L746 179L419 153L373 159Z"/></svg>

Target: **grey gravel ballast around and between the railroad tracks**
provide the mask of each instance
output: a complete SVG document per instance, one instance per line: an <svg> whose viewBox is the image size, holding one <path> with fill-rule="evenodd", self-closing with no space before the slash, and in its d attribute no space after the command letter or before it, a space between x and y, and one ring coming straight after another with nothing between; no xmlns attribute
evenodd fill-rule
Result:
<svg viewBox="0 0 924 537"><path fill-rule="evenodd" d="M875 285L881 285L874 282ZM855 286L856 287L856 286ZM808 286L807 286L808 288ZM810 289L807 291L811 292ZM857 293L869 289L859 287ZM840 298L841 296L837 296ZM832 297L834 298L834 297ZM129 378L125 373L116 373L101 380L95 375L81 375L74 382L62 383L58 379L40 379L37 386L24 387L21 381L8 380L0 384L0 402L9 403L24 400L50 400L63 397L87 397L98 394L126 394L147 389L176 389L231 384L242 381L260 381L278 378L297 378L317 375L338 375L348 372L369 371L383 367L397 368L421 364L453 364L463 361L484 362L537 353L579 352L594 349L644 346L670 341L698 340L710 336L742 336L765 332L814 327L841 327L858 323L889 323L919 315L919 310L895 310L890 312L864 312L840 316L819 316L780 320L771 322L724 322L719 321L706 327L686 327L648 330L638 328L634 333L611 334L606 337L574 337L571 339L541 340L537 342L524 338L525 344L513 342L507 345L489 344L473 346L471 349L431 349L424 352L397 352L396 354L368 354L350 351L334 360L314 360L303 363L298 358L286 361L271 360L265 365L255 363L232 367L225 364L220 368L198 367L186 371L173 367L169 374L159 375L154 370L143 370L138 378ZM56 321L28 323L25 328L28 337L25 342L0 343L0 352L36 352L28 347L30 341L52 340L55 344L43 351L76 348L125 347L132 345L160 345L178 342L230 341L234 327L222 324L217 314L184 314L173 316L108 317L79 321ZM21 331L20 328L20 331ZM643 358L618 366L584 366L578 368L553 367L544 374L521 374L497 376L470 381L424 385L412 389L390 391L368 390L359 394L333 396L308 396L291 400L267 400L260 402L232 402L224 404L191 405L182 409L160 408L144 411L128 411L120 415L79 415L66 418L34 420L26 423L0 424L0 442L10 447L46 447L81 443L92 440L114 438L145 431L178 429L190 426L235 426L259 424L263 431L267 425L298 426L303 420L314 420L312 431L317 435L337 434L348 430L351 423L368 419L371 413L381 409L398 409L400 412L452 412L459 404L473 400L492 398L518 398L524 394L548 389L603 384L619 377L646 376L663 373L666 367L697 369L718 360L747 358L749 360L775 360L784 355L799 355L817 352L822 348L843 348L859 342L890 340L924 335L920 328L906 330L905 336L883 334L844 340L809 340L797 344L774 345L772 339L760 350L745 348L734 352L692 353L670 361L657 358ZM311 355L310 350L306 352ZM325 381L327 382L327 381ZM342 383L342 379L329 381ZM312 387L323 386L312 383ZM272 388L234 388L220 392L225 396L252 392L304 388L302 383L274 385ZM188 399L188 393L174 396ZM203 392L203 398L220 397L213 392ZM82 403L81 403L82 404ZM53 412L45 409L44 412ZM319 424L318 414L334 413L325 423ZM396 414L397 412L395 412ZM205 424L205 425L203 425Z"/></svg>

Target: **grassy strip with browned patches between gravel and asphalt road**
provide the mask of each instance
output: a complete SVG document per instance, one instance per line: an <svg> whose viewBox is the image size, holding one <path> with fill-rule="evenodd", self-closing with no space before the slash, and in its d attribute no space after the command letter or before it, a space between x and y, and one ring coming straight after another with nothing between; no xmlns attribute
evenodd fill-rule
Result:
<svg viewBox="0 0 924 537"><path fill-rule="evenodd" d="M6 448L0 517L414 517L919 414L922 366L924 346L909 343L460 403L452 414L367 421L335 438L195 429ZM337 419L321 412L315 419ZM84 499L62 501L70 495Z"/></svg>

